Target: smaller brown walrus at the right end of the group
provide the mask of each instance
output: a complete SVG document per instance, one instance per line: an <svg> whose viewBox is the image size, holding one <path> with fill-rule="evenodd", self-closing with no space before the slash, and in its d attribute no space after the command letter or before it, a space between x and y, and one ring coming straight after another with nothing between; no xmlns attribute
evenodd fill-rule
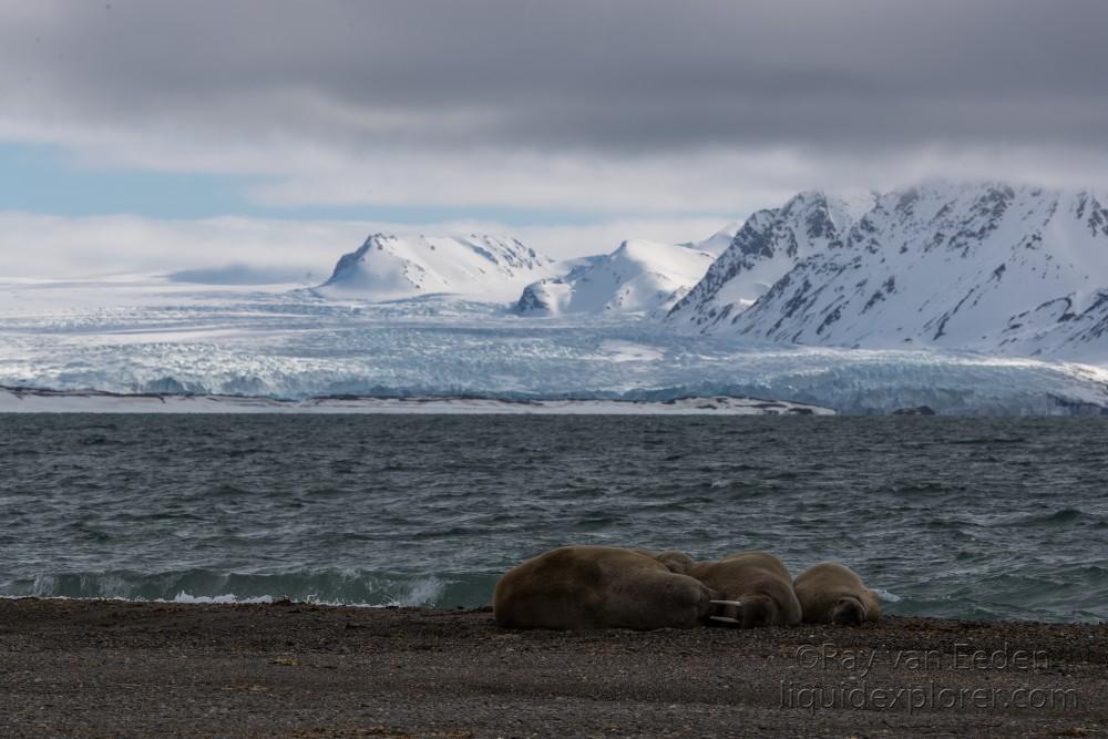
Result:
<svg viewBox="0 0 1108 739"><path fill-rule="evenodd" d="M858 574L838 562L824 562L801 573L793 587L806 624L864 624L881 618L878 594Z"/></svg>

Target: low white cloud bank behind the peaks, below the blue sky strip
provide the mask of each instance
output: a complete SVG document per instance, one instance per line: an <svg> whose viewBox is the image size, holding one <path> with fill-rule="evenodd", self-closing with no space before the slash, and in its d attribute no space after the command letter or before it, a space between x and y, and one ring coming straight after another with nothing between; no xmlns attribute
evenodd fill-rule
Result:
<svg viewBox="0 0 1108 739"><path fill-rule="evenodd" d="M376 233L506 234L555 258L611 252L624 238L684 242L722 226L714 218L638 218L511 228L482 222L412 226L369 222L224 217L161 220L0 212L0 281L168 274L246 266L290 281L320 283L339 256ZM310 275L310 276L309 276Z"/></svg>

